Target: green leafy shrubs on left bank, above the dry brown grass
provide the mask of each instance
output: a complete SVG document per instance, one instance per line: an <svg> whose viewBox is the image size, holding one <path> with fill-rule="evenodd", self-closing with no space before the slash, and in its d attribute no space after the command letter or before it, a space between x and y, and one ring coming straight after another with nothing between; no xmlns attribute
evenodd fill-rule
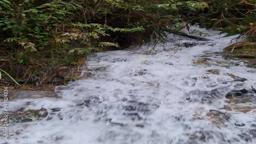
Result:
<svg viewBox="0 0 256 144"><path fill-rule="evenodd" d="M206 3L174 0L1 0L0 4L0 38L15 47L13 58L19 64L30 63L32 56L54 59L59 53L74 53L78 60L91 52L164 42L166 28L178 30L174 23L182 20L179 13L208 8Z"/></svg>

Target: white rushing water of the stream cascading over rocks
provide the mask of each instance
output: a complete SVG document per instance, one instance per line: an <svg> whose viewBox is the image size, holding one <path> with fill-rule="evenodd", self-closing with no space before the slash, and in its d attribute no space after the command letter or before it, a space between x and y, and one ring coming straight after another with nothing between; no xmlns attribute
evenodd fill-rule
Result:
<svg viewBox="0 0 256 144"><path fill-rule="evenodd" d="M10 102L12 110L45 108L48 115L12 124L9 140L0 143L256 143L254 101L228 103L225 98L241 89L253 93L256 71L221 56L234 37L207 33L210 41L170 35L154 50L92 55L83 80L56 87L60 98ZM182 47L185 42L191 47ZM238 105L250 108L236 110Z"/></svg>

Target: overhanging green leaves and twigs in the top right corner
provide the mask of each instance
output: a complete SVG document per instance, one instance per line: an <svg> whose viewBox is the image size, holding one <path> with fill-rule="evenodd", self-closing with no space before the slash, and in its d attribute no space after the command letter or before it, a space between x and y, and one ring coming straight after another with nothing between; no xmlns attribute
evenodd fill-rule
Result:
<svg viewBox="0 0 256 144"><path fill-rule="evenodd" d="M255 0L219 0L207 3L211 6L209 11L191 17L190 22L199 22L201 26L222 30L221 33L227 33L224 37L241 34L247 35L250 41L256 40Z"/></svg>

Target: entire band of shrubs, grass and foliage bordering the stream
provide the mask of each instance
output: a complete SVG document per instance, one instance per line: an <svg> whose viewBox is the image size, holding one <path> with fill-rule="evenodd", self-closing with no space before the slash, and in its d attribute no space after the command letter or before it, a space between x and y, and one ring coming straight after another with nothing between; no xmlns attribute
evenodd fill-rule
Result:
<svg viewBox="0 0 256 144"><path fill-rule="evenodd" d="M255 8L255 0L0 0L0 84L66 84L90 53L164 43L194 23L246 36L225 50L255 59Z"/></svg>

